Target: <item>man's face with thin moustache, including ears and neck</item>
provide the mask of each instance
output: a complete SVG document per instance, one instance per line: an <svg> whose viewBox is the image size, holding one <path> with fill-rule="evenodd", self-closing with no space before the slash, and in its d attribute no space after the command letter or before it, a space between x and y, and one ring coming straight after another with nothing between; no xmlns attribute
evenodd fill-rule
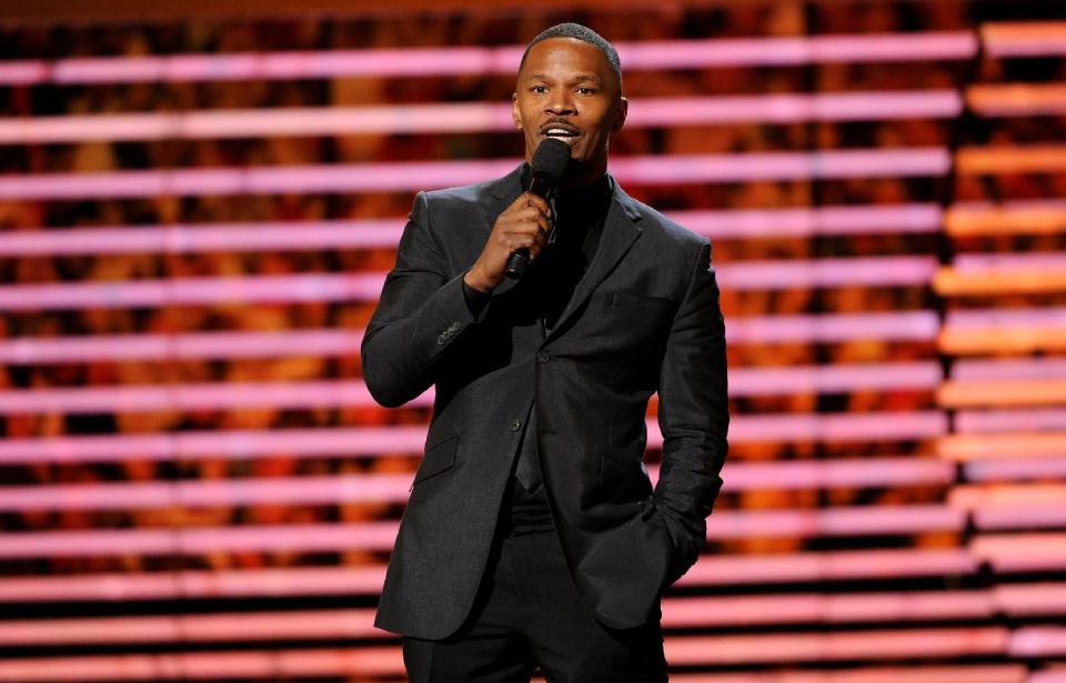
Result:
<svg viewBox="0 0 1066 683"><path fill-rule="evenodd" d="M573 38L536 43L519 72L512 100L514 124L525 135L526 161L546 138L557 138L579 163L571 181L603 175L607 142L622 130L627 102L599 48Z"/></svg>

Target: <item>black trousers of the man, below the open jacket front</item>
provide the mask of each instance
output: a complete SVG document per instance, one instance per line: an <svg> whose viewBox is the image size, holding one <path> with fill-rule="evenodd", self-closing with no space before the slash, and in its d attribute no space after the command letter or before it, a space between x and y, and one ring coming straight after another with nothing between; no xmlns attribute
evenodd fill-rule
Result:
<svg viewBox="0 0 1066 683"><path fill-rule="evenodd" d="M554 531L503 533L471 615L443 641L403 639L412 683L666 681L661 614L627 630L602 625L577 594Z"/></svg>

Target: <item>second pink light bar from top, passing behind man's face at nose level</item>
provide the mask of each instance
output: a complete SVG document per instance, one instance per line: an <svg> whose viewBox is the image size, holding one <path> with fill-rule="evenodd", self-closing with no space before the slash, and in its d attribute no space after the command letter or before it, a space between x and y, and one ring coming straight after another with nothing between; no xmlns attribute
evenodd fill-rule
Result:
<svg viewBox="0 0 1066 683"><path fill-rule="evenodd" d="M962 97L954 90L650 98L630 100L625 124L882 121L948 118L959 111ZM0 144L513 130L511 104L462 102L19 117L0 119Z"/></svg>

